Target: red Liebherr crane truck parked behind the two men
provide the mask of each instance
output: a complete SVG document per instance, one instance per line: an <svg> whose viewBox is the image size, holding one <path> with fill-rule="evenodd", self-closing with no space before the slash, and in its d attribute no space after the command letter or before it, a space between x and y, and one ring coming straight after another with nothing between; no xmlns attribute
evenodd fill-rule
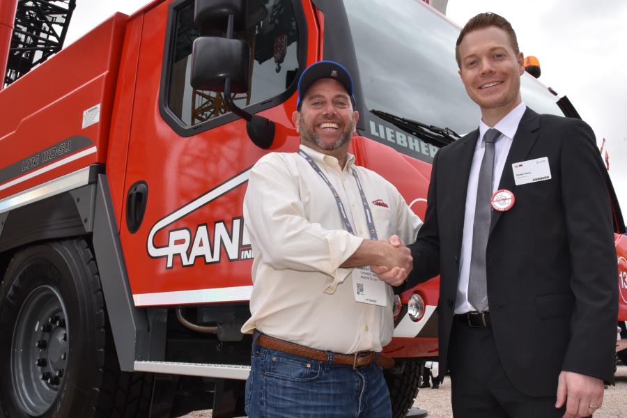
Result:
<svg viewBox="0 0 627 418"><path fill-rule="evenodd" d="M457 75L458 32L416 0L155 0L0 91L1 415L243 415L242 199L259 157L297 149L300 73L346 65L357 164L424 217L433 155L479 118ZM578 116L532 77L522 95ZM627 238L610 195L627 320ZM438 353L438 285L394 306L395 417Z"/></svg>

